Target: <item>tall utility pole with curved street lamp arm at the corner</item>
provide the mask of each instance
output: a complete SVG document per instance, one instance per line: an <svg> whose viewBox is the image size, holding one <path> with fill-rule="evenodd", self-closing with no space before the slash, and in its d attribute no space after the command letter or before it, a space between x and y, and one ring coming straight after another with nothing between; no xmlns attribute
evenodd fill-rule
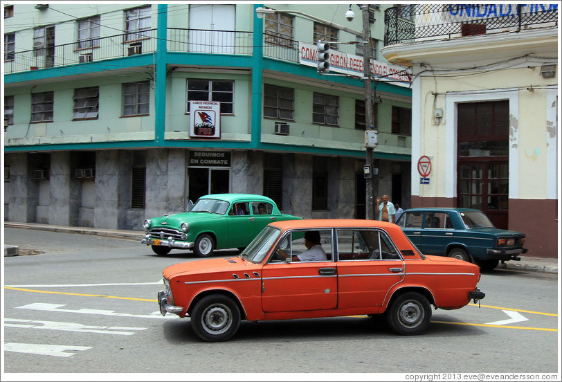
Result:
<svg viewBox="0 0 562 382"><path fill-rule="evenodd" d="M298 10L274 10L271 8L263 8L258 7L255 8L255 12L257 17L263 18L264 15L273 14L273 13L291 13L294 15L302 15L312 19L314 21L318 21L322 24L330 26L332 28L336 28L339 30L343 30L344 32L350 33L357 37L361 37L363 39L363 85L365 91L365 215L367 219L374 219L374 194L373 194L373 184L374 184L374 177L370 176L373 174L373 149L377 146L377 129L374 128L373 123L373 109L372 109L372 93L371 93L371 49L370 49L370 25L369 25L369 6L368 4L359 5L362 11L362 18L363 18L363 31L358 32L356 30L352 30L345 26L341 26L339 24L332 23L332 21L327 21L324 19L320 19L316 16L308 15L307 13L300 12ZM347 10L345 13L345 18L347 21L352 21L355 15L353 10ZM369 174L369 176L367 176Z"/></svg>

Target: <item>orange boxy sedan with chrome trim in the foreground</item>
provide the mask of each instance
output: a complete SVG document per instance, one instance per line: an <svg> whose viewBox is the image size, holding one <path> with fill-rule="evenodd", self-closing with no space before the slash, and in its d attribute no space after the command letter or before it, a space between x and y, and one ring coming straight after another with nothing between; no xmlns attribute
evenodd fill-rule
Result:
<svg viewBox="0 0 562 382"><path fill-rule="evenodd" d="M232 337L241 320L369 315L398 334L428 327L431 305L459 309L484 293L478 265L425 256L384 221L309 219L271 223L238 256L163 271L163 315L190 316L206 341Z"/></svg>

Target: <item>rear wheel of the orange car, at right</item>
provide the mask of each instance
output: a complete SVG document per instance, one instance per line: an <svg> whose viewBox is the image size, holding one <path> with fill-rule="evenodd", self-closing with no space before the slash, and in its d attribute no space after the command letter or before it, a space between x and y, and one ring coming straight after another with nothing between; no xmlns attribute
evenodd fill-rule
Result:
<svg viewBox="0 0 562 382"><path fill-rule="evenodd" d="M417 292L399 295L390 304L386 320L398 334L413 336L427 329L431 320L431 306L428 299Z"/></svg>

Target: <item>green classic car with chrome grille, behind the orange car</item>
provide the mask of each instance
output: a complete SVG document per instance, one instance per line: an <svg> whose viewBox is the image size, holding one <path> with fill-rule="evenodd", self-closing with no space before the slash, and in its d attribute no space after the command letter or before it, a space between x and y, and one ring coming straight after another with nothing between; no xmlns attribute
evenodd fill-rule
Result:
<svg viewBox="0 0 562 382"><path fill-rule="evenodd" d="M282 214L275 202L255 194L210 194L199 198L189 212L146 219L142 244L156 255L174 248L191 249L199 257L215 249L242 251L272 221L298 220Z"/></svg>

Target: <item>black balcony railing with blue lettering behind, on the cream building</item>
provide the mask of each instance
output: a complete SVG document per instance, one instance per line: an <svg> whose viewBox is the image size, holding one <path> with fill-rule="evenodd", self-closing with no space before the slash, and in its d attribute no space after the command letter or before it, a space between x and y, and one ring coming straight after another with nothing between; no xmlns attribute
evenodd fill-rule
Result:
<svg viewBox="0 0 562 382"><path fill-rule="evenodd" d="M384 45L556 28L556 4L408 4L388 8Z"/></svg>

